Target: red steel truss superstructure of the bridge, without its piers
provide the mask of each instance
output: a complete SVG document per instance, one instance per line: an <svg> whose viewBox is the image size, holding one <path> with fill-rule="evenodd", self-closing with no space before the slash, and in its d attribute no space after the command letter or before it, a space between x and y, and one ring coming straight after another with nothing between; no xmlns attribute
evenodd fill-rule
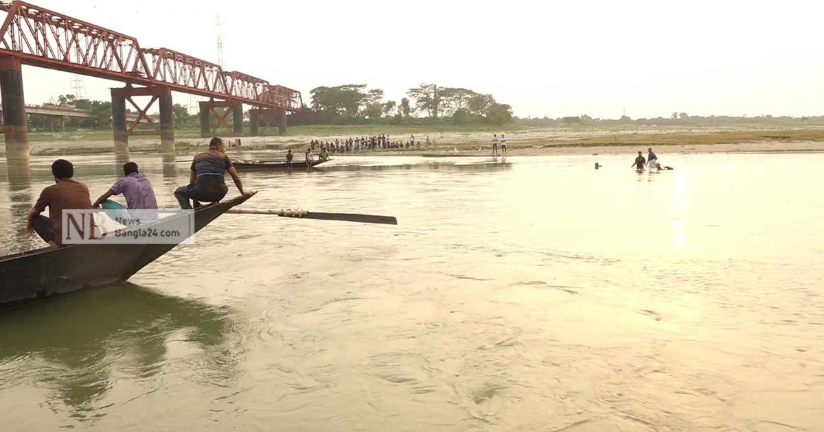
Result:
<svg viewBox="0 0 824 432"><path fill-rule="evenodd" d="M299 91L21 1L0 2L0 54L38 67L296 111Z"/></svg>

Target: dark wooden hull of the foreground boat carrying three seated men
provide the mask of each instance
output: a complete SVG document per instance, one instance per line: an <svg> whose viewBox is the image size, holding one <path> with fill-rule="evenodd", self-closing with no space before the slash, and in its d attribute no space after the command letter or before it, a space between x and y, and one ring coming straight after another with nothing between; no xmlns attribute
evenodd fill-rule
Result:
<svg viewBox="0 0 824 432"><path fill-rule="evenodd" d="M248 196L241 196L197 208L194 211L195 232L247 199ZM166 218L156 223L160 225L164 221ZM46 247L0 257L0 309L93 286L122 283L175 246L70 244L63 248Z"/></svg>

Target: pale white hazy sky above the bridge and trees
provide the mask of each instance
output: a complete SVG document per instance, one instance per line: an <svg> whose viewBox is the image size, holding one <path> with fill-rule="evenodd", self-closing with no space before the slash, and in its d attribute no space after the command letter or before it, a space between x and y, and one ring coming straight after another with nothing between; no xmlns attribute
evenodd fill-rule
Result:
<svg viewBox="0 0 824 432"><path fill-rule="evenodd" d="M421 82L492 93L520 117L824 114L824 2L32 0L302 92ZM71 75L24 70L26 103ZM119 83L85 77L92 99ZM196 102L198 99L195 97ZM175 95L187 105L188 95Z"/></svg>

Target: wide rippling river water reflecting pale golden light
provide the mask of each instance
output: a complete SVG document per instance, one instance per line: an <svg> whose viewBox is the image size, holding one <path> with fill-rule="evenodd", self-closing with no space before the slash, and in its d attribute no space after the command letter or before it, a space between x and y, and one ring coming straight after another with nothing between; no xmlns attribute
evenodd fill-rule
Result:
<svg viewBox="0 0 824 432"><path fill-rule="evenodd" d="M245 207L399 225L224 215L0 314L3 430L821 430L824 155L660 156L241 173ZM125 160L68 159L92 200ZM175 206L190 158L132 159ZM0 162L5 253L52 160Z"/></svg>

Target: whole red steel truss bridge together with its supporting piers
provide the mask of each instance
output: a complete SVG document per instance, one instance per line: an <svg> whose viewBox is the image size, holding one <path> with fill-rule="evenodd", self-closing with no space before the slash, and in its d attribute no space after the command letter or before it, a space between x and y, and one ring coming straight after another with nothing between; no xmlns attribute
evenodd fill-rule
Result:
<svg viewBox="0 0 824 432"><path fill-rule="evenodd" d="M218 115L215 108L231 111L232 132L242 133L242 106L252 105L252 134L257 132L261 115L279 118L280 132L284 133L286 113L302 109L299 91L243 72L224 71L218 64L173 49L143 48L133 36L44 7L20 1L0 2L0 19L0 83L7 147L10 132L17 138L26 132L21 64L124 82L123 88L112 89L115 142L128 143L129 133L136 126L125 124L125 102L138 109L139 122L148 118L146 110L158 100L160 122L149 120L149 124L161 135L164 147L171 140L173 148L171 91L210 98L200 103L204 135L216 132L210 127L212 114L218 116L218 128L228 127L227 113ZM149 105L138 106L132 99L138 95L151 96Z"/></svg>

